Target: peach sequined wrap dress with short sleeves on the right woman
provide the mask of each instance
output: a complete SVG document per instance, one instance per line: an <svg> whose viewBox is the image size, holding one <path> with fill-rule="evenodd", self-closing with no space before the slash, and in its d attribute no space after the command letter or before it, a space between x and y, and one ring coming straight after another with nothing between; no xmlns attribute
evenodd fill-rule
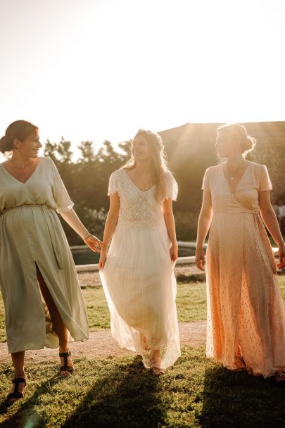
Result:
<svg viewBox="0 0 285 428"><path fill-rule="evenodd" d="M258 192L272 189L265 165L248 162L234 193L222 165L205 171L213 220L206 254L207 356L229 370L270 377L285 367L285 313ZM241 351L243 361L239 358Z"/></svg>

